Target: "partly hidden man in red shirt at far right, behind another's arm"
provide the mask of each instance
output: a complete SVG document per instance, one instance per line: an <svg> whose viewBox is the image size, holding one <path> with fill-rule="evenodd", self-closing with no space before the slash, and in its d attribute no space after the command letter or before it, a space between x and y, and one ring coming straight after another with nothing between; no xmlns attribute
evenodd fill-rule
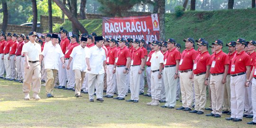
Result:
<svg viewBox="0 0 256 128"><path fill-rule="evenodd" d="M247 54L250 56L250 61L252 63L251 70L253 69L253 62L256 58L256 42L254 40L247 42ZM244 116L246 118L253 118L253 108L252 108L252 86L250 84L249 87L245 90L245 112Z"/></svg>

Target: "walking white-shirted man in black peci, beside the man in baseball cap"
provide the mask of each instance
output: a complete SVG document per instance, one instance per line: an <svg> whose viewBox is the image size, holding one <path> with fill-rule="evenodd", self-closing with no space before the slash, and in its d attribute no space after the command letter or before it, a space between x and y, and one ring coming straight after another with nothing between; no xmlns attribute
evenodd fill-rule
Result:
<svg viewBox="0 0 256 128"><path fill-rule="evenodd" d="M44 60L46 61L45 69L47 74L47 81L46 81L46 96L48 98L54 97L53 89L54 89L54 81L56 74L58 72L59 68L59 58L62 62L62 67L65 68L64 63L64 54L62 53L60 45L57 45L58 43L58 35L53 34L51 39L51 44L47 44L44 47L44 50L42 52L42 55L44 56Z"/></svg>

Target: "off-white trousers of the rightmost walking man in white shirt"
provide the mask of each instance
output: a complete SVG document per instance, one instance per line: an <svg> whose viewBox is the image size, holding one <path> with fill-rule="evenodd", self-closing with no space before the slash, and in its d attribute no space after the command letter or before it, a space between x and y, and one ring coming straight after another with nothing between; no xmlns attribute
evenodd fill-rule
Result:
<svg viewBox="0 0 256 128"><path fill-rule="evenodd" d="M103 95L103 86L104 86L104 73L103 74L91 74L88 73L88 94L89 99L94 98L94 90L96 88L96 97L102 98Z"/></svg>

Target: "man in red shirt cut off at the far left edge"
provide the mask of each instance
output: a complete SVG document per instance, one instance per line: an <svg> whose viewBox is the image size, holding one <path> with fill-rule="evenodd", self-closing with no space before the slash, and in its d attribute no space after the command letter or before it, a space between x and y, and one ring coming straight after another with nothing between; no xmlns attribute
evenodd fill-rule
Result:
<svg viewBox="0 0 256 128"><path fill-rule="evenodd" d="M4 46L5 46L5 34L1 33L0 34L0 78L3 79L4 78L4 72L5 72L5 68L4 68Z"/></svg>

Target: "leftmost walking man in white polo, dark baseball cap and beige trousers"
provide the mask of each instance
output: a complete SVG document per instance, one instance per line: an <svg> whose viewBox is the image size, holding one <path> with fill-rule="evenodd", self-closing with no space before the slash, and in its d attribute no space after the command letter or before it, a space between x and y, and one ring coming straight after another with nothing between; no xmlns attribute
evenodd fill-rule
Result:
<svg viewBox="0 0 256 128"><path fill-rule="evenodd" d="M41 46L36 43L37 33L31 31L29 33L29 42L24 44L22 47L21 54L25 56L24 65L24 81L23 81L23 92L25 93L25 100L30 100L29 92L31 90L34 92L33 98L40 100L38 93L41 89Z"/></svg>

